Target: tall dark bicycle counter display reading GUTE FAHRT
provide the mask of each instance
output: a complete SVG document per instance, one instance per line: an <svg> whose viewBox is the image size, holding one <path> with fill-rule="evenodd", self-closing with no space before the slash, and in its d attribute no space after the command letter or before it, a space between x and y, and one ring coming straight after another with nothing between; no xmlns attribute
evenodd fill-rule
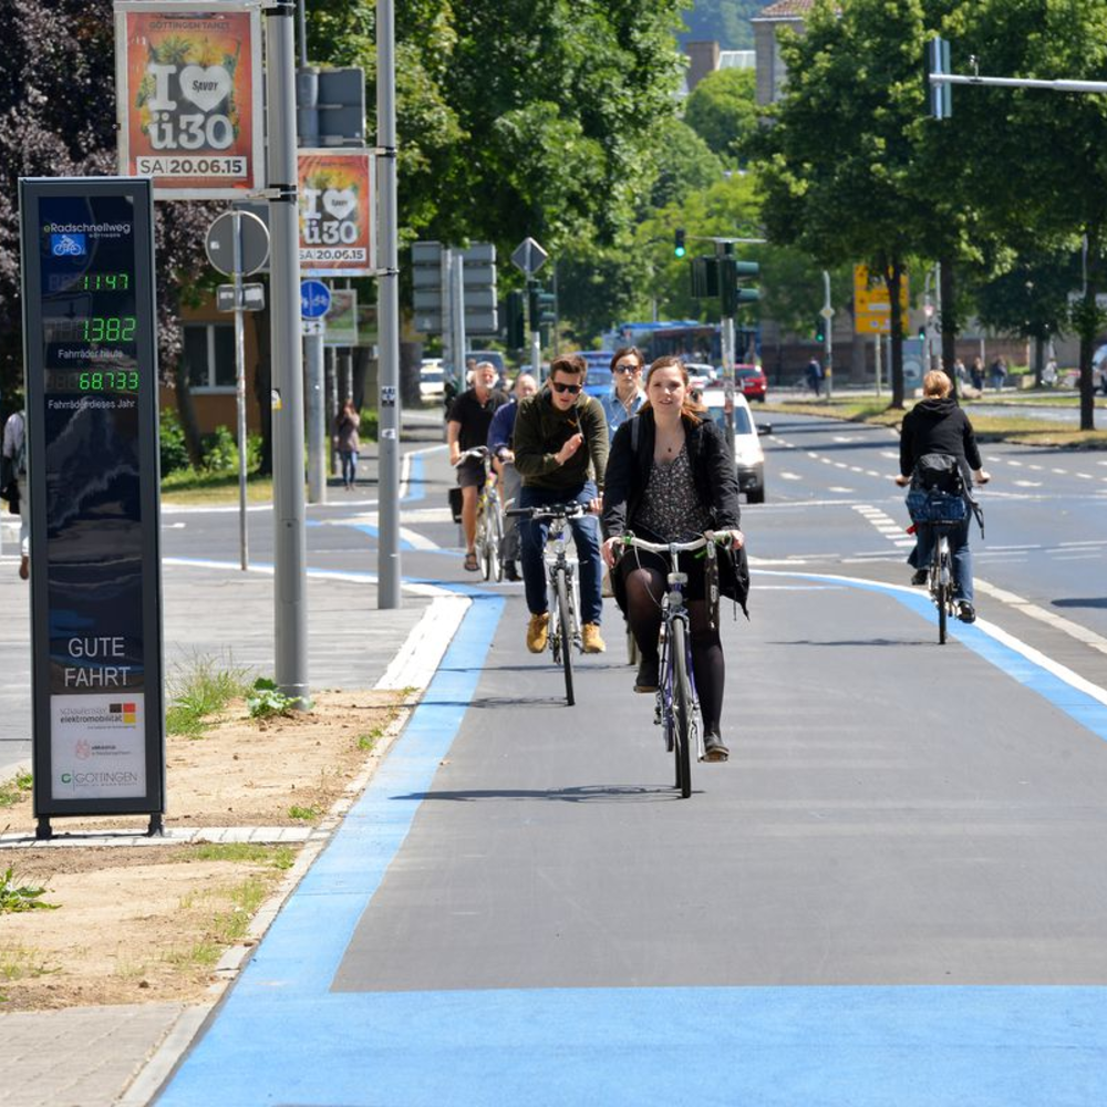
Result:
<svg viewBox="0 0 1107 1107"><path fill-rule="evenodd" d="M153 196L20 182L34 810L165 806Z"/></svg>

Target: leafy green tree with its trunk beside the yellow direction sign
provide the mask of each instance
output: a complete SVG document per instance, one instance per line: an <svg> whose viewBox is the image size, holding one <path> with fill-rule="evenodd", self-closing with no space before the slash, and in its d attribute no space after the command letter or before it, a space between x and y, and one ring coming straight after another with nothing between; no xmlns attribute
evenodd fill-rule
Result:
<svg viewBox="0 0 1107 1107"><path fill-rule="evenodd" d="M865 262L899 302L932 207L917 182L921 0L815 0L804 35L782 33L788 65L775 125L751 141L768 237L826 268ZM892 312L891 405L903 405L902 327Z"/></svg>

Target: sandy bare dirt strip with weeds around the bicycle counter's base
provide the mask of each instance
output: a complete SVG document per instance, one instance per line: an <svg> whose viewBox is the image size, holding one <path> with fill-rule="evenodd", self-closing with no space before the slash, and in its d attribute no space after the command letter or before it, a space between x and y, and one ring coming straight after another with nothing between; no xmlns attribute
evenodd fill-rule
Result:
<svg viewBox="0 0 1107 1107"><path fill-rule="evenodd" d="M309 713L251 720L230 705L203 737L170 735L167 829L311 827L360 786L400 725L394 692L320 692ZM53 819L54 832L146 828L146 817ZM34 832L30 794L0 809ZM53 910L0 914L0 1011L204 999L224 951L249 941L258 908L298 846L66 845L0 850L0 878L45 888Z"/></svg>

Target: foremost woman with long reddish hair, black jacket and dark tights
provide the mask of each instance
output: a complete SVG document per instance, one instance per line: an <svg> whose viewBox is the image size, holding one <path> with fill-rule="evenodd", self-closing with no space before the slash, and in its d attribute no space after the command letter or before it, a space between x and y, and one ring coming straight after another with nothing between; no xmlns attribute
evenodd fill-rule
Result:
<svg viewBox="0 0 1107 1107"><path fill-rule="evenodd" d="M682 541L707 530L730 531L735 556L720 558L720 591L745 609L748 577L745 559L737 554L745 541L738 529L738 482L723 432L692 402L680 358L659 358L650 366L645 393L641 412L619 427L611 444L603 490L603 560L614 565L615 545L628 531L655 542ZM720 732L725 663L706 597L704 565L691 557L681 565L689 576L684 598L691 615L692 671L706 759L726 761L728 751ZM615 600L642 655L635 692L658 689L661 598L669 571L660 555L635 550L611 575Z"/></svg>

